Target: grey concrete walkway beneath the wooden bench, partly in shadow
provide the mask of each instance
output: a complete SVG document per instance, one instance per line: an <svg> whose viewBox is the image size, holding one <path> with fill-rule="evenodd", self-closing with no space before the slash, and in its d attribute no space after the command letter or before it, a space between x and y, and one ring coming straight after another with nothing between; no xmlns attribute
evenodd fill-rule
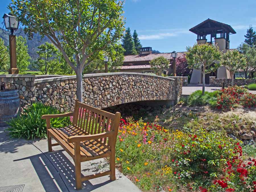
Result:
<svg viewBox="0 0 256 192"><path fill-rule="evenodd" d="M0 191L55 192L77 191L75 189L75 167L71 156L60 146L48 152L47 140L27 141L10 139L0 127ZM83 162L82 174L90 175L109 169L104 159ZM109 176L83 182L79 191L120 192L140 190L123 174L116 170L115 181Z"/></svg>

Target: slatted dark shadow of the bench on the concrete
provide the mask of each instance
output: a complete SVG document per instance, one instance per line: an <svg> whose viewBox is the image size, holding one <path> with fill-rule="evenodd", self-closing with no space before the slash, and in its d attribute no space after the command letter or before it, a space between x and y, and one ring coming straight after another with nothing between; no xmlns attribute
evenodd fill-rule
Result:
<svg viewBox="0 0 256 192"><path fill-rule="evenodd" d="M64 150L46 152L44 154L16 159L14 161L29 159L47 192L78 191L75 188L75 166L71 162L73 159L68 159L63 152ZM102 169L102 165L98 163L91 163L91 165L93 167L89 166L90 169L83 169L82 167L82 171L91 172L90 174L93 174ZM106 178L106 176L102 181L103 182L97 182L98 184L94 185L90 181L84 181L82 182L82 189L79 191L92 191L112 182L109 180L109 177Z"/></svg>

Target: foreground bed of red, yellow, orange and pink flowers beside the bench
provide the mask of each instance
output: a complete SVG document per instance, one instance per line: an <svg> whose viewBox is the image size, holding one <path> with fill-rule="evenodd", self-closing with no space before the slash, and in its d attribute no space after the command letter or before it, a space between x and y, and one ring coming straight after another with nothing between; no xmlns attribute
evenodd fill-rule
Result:
<svg viewBox="0 0 256 192"><path fill-rule="evenodd" d="M116 164L143 191L256 191L255 160L219 132L122 119L117 139Z"/></svg>

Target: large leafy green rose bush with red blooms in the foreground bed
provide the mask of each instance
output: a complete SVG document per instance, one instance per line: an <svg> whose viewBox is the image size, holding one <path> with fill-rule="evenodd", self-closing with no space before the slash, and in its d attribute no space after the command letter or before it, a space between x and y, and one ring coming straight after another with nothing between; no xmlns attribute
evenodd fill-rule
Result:
<svg viewBox="0 0 256 192"><path fill-rule="evenodd" d="M191 134L193 133L193 134ZM211 185L212 177L222 174L226 161L236 156L236 143L219 132L203 129L177 137L169 154L175 178L194 187Z"/></svg>

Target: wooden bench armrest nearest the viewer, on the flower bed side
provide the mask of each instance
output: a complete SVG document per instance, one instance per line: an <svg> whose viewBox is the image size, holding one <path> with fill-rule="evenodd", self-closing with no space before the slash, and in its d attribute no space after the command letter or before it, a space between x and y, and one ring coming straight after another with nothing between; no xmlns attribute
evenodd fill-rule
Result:
<svg viewBox="0 0 256 192"><path fill-rule="evenodd" d="M80 142L80 141L90 141L95 139L102 139L104 137L112 137L114 136L114 131L108 131L105 133L98 133L94 135L77 135L77 136L71 136L67 139L67 142L74 143L74 142Z"/></svg>

